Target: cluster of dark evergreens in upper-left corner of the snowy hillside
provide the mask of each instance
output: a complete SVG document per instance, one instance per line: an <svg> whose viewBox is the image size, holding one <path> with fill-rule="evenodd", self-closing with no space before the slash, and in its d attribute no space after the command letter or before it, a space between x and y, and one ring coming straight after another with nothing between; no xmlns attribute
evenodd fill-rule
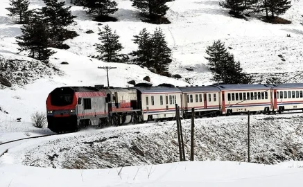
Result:
<svg viewBox="0 0 303 187"><path fill-rule="evenodd" d="M71 7L64 7L64 2L58 0L44 0L46 6L41 9L28 10L28 0L10 0L8 16L17 17L22 35L16 37L19 51L26 51L29 57L48 62L54 53L49 47L69 48L64 45L65 39L75 37L76 32L67 30L75 16L71 14Z"/></svg>

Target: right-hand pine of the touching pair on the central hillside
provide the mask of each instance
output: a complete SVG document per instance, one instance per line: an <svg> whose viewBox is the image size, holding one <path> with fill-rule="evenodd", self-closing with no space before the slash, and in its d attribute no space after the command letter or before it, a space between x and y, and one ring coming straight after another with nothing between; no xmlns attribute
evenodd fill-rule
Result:
<svg viewBox="0 0 303 187"><path fill-rule="evenodd" d="M167 71L168 65L171 64L171 48L168 48L165 41L164 33L161 28L156 28L155 33L151 36L153 46L153 66L157 72Z"/></svg>

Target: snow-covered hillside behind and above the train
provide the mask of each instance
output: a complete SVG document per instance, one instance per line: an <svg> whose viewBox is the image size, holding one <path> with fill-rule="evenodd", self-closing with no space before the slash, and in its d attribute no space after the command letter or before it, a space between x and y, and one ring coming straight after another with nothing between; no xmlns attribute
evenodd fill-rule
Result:
<svg viewBox="0 0 303 187"><path fill-rule="evenodd" d="M147 28L152 32L160 26L166 35L168 46L173 49L173 63L169 71L182 75L181 80L166 78L136 65L105 63L88 57L96 53L94 44L98 41L98 26L92 17L87 15L82 7L73 6L69 0L67 6L72 6L73 15L76 15L76 25L70 26L79 36L67 40L71 46L68 50L54 49L57 53L51 56L51 64L62 70L64 75L51 75L51 77L37 75L38 80L30 81L24 87L13 84L13 89L0 90L0 107L9 114L0 112L0 121L3 118L19 118L29 121L30 115L35 111L44 111L47 95L55 87L64 85L94 85L107 84L106 72L98 66L116 66L110 71L110 84L116 87L130 86L128 80L142 82L144 76L149 75L154 85L163 82L175 85L211 84L211 74L207 69L205 48L221 39L230 52L240 60L243 69L248 73L265 73L260 81L272 73L289 78L297 71L302 71L302 1L293 1L292 8L282 15L292 21L290 25L266 24L257 19L257 15L244 19L235 19L218 5L219 1L206 0L175 0L168 3L170 9L166 17L171 21L168 25L153 25L140 21L139 10L131 6L130 1L117 0L119 10L113 15L119 21L107 24L121 37L124 46L122 53L130 53L137 48L132 42L133 35ZM0 55L5 58L28 60L17 54L15 37L21 34L20 25L6 16L9 1L0 2ZM42 0L31 0L30 8L44 6ZM103 26L105 24L103 23ZM87 34L87 30L94 33ZM291 34L291 37L286 37ZM278 55L283 55L282 61ZM60 64L69 62L69 64ZM188 71L185 68L191 68ZM43 78L41 78L43 77ZM187 82L184 82L187 80ZM284 80L284 78L282 78ZM295 81L301 82L302 78ZM17 97L16 97L17 96ZM19 98L19 99L16 99ZM3 116L5 115L5 116Z"/></svg>

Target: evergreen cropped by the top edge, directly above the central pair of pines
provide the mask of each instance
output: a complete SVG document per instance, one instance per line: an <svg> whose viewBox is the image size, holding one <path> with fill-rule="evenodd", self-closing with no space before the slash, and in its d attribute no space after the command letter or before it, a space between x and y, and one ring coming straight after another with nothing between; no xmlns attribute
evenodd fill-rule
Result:
<svg viewBox="0 0 303 187"><path fill-rule="evenodd" d="M162 17L166 15L169 9L166 6L167 2L174 0L131 0L132 6L135 6L148 17Z"/></svg>

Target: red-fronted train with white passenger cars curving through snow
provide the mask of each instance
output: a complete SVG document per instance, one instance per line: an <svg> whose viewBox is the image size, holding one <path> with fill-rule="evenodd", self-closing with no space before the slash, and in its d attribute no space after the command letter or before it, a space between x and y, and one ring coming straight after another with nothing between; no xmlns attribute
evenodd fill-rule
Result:
<svg viewBox="0 0 303 187"><path fill-rule="evenodd" d="M170 121L176 105L182 118L191 118L192 108L195 116L281 114L303 110L303 83L58 87L46 99L47 123L51 131L61 133L87 126Z"/></svg>

